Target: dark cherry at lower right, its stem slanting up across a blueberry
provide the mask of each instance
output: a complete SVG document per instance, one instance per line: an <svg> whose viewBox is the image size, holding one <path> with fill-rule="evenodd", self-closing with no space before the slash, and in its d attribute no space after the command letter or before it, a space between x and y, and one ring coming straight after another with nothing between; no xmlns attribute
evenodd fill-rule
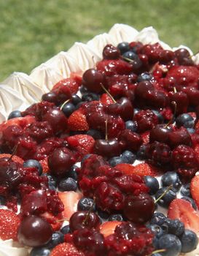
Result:
<svg viewBox="0 0 199 256"><path fill-rule="evenodd" d="M155 203L148 194L128 195L125 197L123 213L126 218L134 223L144 223L152 218L155 211Z"/></svg>

